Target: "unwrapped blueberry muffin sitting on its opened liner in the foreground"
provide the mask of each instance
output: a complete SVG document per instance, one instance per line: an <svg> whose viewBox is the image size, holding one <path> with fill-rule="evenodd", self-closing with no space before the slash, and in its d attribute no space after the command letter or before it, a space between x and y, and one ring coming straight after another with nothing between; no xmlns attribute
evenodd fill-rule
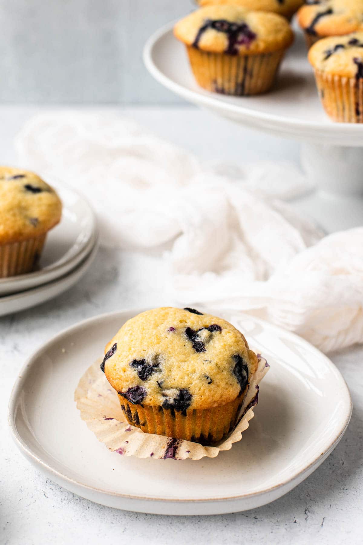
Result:
<svg viewBox="0 0 363 545"><path fill-rule="evenodd" d="M138 314L105 353L101 370L130 424L200 443L214 443L236 425L258 365L237 329L193 308Z"/></svg>

